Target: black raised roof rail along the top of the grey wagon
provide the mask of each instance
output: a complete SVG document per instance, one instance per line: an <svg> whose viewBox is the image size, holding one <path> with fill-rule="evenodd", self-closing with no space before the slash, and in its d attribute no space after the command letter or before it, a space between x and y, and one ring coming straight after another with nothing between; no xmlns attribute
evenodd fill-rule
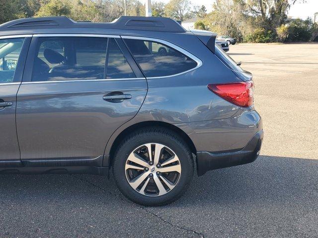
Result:
<svg viewBox="0 0 318 238"><path fill-rule="evenodd" d="M76 22L66 16L35 17L9 21L0 25L0 31L49 28L106 28L186 32L175 20L166 17L121 16L110 23Z"/></svg>

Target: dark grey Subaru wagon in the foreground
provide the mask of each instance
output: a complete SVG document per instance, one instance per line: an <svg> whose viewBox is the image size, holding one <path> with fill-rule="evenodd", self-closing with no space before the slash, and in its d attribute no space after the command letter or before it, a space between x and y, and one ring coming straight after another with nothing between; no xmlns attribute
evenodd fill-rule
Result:
<svg viewBox="0 0 318 238"><path fill-rule="evenodd" d="M0 25L0 173L112 168L129 199L163 205L186 191L194 163L202 176L254 161L252 76L215 39L161 17Z"/></svg>

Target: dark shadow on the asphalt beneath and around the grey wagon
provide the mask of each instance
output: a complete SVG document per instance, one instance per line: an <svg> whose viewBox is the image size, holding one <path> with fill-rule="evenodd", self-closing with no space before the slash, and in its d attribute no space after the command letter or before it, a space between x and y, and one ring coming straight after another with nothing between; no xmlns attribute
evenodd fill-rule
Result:
<svg viewBox="0 0 318 238"><path fill-rule="evenodd" d="M318 160L300 158L259 156L211 171L175 203L148 208L105 177L0 175L0 235L315 237L317 204Z"/></svg>

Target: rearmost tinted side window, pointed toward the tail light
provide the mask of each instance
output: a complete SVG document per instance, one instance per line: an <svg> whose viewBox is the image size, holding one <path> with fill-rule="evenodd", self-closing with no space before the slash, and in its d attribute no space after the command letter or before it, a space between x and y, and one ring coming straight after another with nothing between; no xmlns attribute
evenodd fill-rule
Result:
<svg viewBox="0 0 318 238"><path fill-rule="evenodd" d="M197 66L196 61L160 43L135 39L125 42L146 77L174 75Z"/></svg>

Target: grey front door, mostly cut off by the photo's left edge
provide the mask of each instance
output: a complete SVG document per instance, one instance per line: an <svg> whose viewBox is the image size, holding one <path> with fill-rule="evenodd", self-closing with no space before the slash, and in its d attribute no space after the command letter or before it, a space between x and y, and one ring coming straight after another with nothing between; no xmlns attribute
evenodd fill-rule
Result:
<svg viewBox="0 0 318 238"><path fill-rule="evenodd" d="M25 37L0 38L0 167L20 163L15 106L29 43Z"/></svg>

